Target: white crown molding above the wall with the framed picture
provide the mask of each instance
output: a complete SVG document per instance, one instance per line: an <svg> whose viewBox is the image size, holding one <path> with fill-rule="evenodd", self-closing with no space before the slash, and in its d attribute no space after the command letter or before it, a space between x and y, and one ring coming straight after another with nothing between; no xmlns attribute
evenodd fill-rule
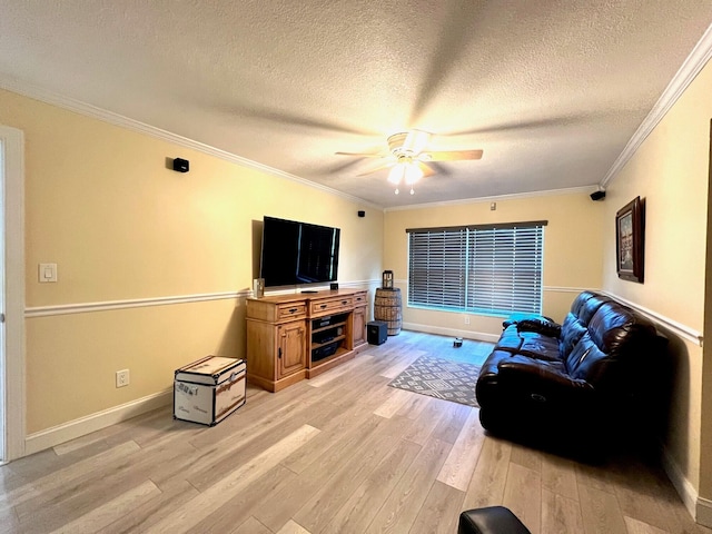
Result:
<svg viewBox="0 0 712 534"><path fill-rule="evenodd" d="M653 106L647 117L637 127L633 137L631 137L627 145L617 157L617 159L611 166L611 169L601 180L601 187L606 187L617 174L625 167L625 164L633 157L640 146L643 144L647 136L655 129L660 121L665 117L670 108L672 108L682 93L688 89L692 80L700 73L708 61L712 58L712 26L710 26L702 39L695 44L690 52L690 56L682 63L682 67L678 70L673 79L670 81L657 102Z"/></svg>

